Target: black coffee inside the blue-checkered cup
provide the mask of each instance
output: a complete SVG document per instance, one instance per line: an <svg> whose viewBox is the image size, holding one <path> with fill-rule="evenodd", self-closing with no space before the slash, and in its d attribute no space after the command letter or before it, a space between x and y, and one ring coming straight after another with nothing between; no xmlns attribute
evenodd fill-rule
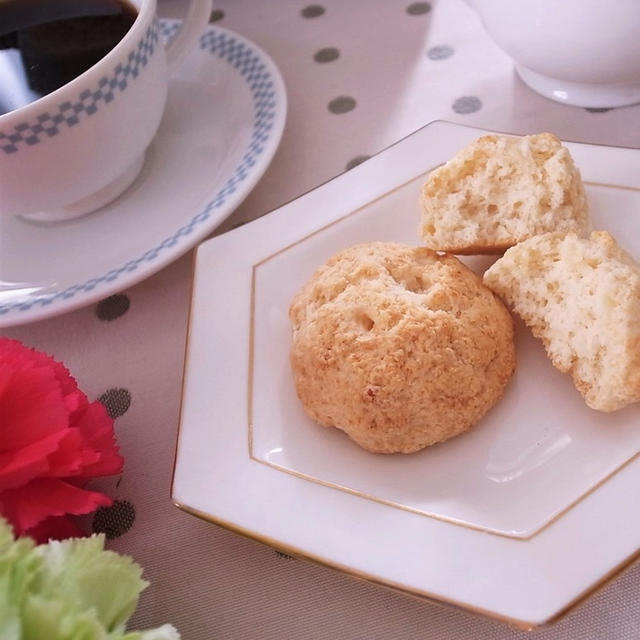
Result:
<svg viewBox="0 0 640 640"><path fill-rule="evenodd" d="M0 55L22 64L31 92L19 102L37 99L92 67L129 31L137 10L127 0L0 0ZM21 70L15 70L19 73ZM5 79L0 76L0 114ZM5 88L6 91L8 89ZM27 97L27 94L28 97ZM16 104L15 91L11 100Z"/></svg>

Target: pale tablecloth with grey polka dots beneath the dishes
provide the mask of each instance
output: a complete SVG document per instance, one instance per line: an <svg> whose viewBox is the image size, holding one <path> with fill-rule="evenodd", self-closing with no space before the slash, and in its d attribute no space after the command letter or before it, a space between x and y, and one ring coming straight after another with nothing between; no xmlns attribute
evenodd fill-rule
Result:
<svg viewBox="0 0 640 640"><path fill-rule="evenodd" d="M181 0L161 12L179 16ZM289 115L263 179L220 232L349 170L436 119L584 142L640 146L640 106L550 102L462 0L220 0L212 22L254 40L280 67ZM516 640L501 623L357 582L201 522L174 508L190 256L99 304L4 331L63 360L115 418L123 474L95 485L112 507L87 517L133 555L152 586L136 627L174 623L186 640ZM597 593L544 640L640 637L640 567Z"/></svg>

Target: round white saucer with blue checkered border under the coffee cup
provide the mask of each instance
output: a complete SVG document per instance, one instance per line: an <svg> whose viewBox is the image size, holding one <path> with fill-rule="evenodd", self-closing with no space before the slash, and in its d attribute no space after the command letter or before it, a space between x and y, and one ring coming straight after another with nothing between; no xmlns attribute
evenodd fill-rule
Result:
<svg viewBox="0 0 640 640"><path fill-rule="evenodd" d="M165 38L177 26L163 20ZM231 31L208 29L171 80L142 173L120 198L65 223L0 219L0 326L95 302L193 247L262 176L285 116L272 60Z"/></svg>

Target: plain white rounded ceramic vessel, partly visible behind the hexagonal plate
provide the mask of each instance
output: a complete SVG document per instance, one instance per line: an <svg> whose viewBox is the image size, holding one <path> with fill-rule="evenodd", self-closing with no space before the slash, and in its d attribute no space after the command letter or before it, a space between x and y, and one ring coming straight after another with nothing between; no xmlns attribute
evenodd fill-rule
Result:
<svg viewBox="0 0 640 640"><path fill-rule="evenodd" d="M640 102L640 0L467 0L522 80L579 107Z"/></svg>

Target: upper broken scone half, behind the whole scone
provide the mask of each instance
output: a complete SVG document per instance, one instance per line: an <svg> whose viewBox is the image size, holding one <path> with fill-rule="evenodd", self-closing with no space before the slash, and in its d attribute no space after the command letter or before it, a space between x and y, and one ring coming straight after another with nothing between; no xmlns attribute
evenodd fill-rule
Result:
<svg viewBox="0 0 640 640"><path fill-rule="evenodd" d="M479 138L429 174L421 206L425 246L457 254L501 253L541 233L591 228L580 173L550 133Z"/></svg>

